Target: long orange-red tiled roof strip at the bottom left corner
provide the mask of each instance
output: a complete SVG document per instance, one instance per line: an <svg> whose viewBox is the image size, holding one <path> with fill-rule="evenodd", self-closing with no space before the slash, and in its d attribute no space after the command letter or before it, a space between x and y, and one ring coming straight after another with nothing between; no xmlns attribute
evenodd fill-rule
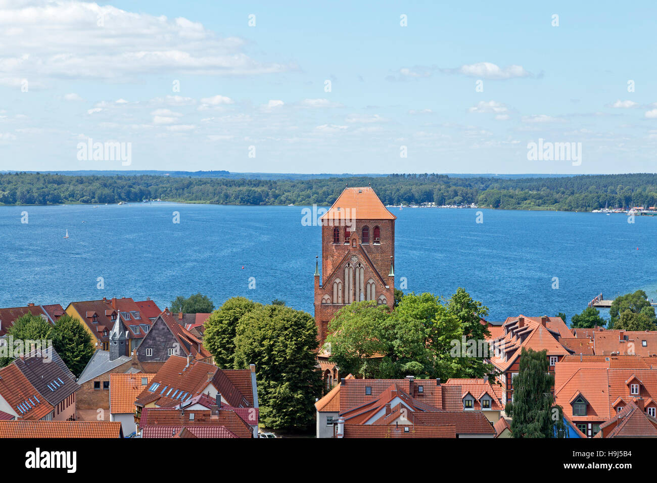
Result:
<svg viewBox="0 0 657 483"><path fill-rule="evenodd" d="M122 438L119 421L0 421L0 438Z"/></svg>

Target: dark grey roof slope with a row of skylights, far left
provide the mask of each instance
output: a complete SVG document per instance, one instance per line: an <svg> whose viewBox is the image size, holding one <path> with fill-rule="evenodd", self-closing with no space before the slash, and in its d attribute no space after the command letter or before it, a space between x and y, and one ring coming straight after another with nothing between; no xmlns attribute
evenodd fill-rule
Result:
<svg viewBox="0 0 657 483"><path fill-rule="evenodd" d="M30 352L29 356L19 357L13 363L39 394L52 405L62 402L80 388L53 347L44 351ZM62 369L62 366L66 370Z"/></svg>

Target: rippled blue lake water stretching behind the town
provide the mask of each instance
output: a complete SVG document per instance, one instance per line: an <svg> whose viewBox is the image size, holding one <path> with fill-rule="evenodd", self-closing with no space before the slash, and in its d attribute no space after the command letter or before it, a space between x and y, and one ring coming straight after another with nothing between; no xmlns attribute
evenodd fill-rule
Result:
<svg viewBox="0 0 657 483"><path fill-rule="evenodd" d="M74 300L129 296L150 297L164 309L177 295L201 292L217 307L231 296L279 298L313 313L320 227L302 225L302 208L2 206L0 306L66 308ZM449 296L464 287L488 306L490 320L559 311L570 317L600 292L613 298L643 288L657 300L657 218L637 216L631 224L624 214L391 211L396 287L405 277L404 292ZM476 223L478 211L483 223Z"/></svg>

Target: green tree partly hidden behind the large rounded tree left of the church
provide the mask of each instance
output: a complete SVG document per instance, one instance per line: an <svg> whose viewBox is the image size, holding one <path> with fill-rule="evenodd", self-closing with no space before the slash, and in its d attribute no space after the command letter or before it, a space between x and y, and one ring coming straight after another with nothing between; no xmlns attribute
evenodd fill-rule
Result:
<svg viewBox="0 0 657 483"><path fill-rule="evenodd" d="M214 357L214 363L222 369L235 366L235 334L240 319L256 307L252 300L233 297L226 300L219 310L210 314L205 322L203 345Z"/></svg>

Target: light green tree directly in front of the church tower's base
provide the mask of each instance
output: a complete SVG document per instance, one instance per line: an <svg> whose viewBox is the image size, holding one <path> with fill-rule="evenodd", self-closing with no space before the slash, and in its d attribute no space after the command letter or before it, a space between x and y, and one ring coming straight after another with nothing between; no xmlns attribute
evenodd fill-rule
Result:
<svg viewBox="0 0 657 483"><path fill-rule="evenodd" d="M376 305L374 300L353 302L336 312L328 323L325 348L342 373L378 377L381 358L374 356L389 352L388 315L388 306Z"/></svg>

